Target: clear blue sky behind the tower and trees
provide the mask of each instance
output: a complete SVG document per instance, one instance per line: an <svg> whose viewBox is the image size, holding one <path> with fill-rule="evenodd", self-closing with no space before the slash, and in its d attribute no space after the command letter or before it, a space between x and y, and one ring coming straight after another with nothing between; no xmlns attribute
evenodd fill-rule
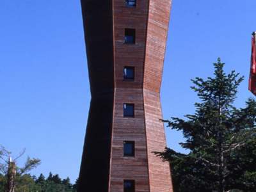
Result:
<svg viewBox="0 0 256 192"><path fill-rule="evenodd" d="M139 0L138 0L139 1ZM248 91L251 34L256 1L173 0L164 61L163 117L194 113L190 79L213 74L220 57L225 72L245 76L237 107ZM0 1L0 145L18 156L42 160L31 172L79 174L90 105L80 1ZM100 117L99 117L100 118ZM167 145L179 152L180 132L166 129Z"/></svg>

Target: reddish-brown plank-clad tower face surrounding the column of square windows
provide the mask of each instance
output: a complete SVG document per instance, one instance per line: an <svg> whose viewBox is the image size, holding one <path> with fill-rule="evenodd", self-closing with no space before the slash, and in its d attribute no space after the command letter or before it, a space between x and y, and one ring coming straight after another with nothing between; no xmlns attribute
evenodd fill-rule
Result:
<svg viewBox="0 0 256 192"><path fill-rule="evenodd" d="M135 180L136 191L148 192L148 163L143 108L143 68L147 34L148 0L136 8L113 0L115 42L115 106L109 192L123 191L124 179ZM136 29L136 43L124 44L125 28ZM134 66L134 81L124 81L124 66ZM124 103L134 104L134 118L124 117ZM134 141L135 156L124 157L124 141Z"/></svg>

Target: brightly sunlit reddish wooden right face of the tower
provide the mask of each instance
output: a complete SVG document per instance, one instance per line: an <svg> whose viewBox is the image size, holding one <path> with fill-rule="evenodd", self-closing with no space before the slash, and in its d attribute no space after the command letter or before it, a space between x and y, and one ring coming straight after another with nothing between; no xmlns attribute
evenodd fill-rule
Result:
<svg viewBox="0 0 256 192"><path fill-rule="evenodd" d="M171 0L150 0L148 10L143 99L150 192L173 191L169 163L151 153L166 147L159 92L171 6Z"/></svg>

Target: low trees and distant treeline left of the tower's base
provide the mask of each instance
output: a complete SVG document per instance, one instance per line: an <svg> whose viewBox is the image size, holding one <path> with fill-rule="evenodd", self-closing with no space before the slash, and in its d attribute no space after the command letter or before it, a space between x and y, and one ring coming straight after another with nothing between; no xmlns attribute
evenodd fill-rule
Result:
<svg viewBox="0 0 256 192"><path fill-rule="evenodd" d="M61 179L58 174L49 173L47 179L41 173L38 178L31 176L28 172L36 168L41 161L39 159L27 158L23 167L18 167L15 161L24 154L25 149L18 157L11 160L11 152L3 146L0 148L0 191L3 192L76 192L76 184L71 184L70 179Z"/></svg>

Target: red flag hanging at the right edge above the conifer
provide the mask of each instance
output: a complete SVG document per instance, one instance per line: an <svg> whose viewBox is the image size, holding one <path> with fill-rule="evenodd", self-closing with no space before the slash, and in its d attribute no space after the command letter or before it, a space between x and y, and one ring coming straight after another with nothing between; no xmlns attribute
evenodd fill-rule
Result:
<svg viewBox="0 0 256 192"><path fill-rule="evenodd" d="M256 96L256 63L255 63L255 44L254 36L252 37L252 54L251 54L251 67L250 67L250 79L249 90Z"/></svg>

